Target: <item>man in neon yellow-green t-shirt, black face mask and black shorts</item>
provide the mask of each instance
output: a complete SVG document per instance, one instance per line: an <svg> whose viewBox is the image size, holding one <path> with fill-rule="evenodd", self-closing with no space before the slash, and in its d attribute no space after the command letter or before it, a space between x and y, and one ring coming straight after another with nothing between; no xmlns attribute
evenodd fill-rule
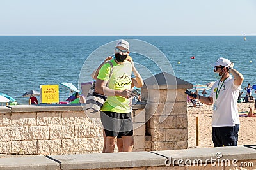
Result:
<svg viewBox="0 0 256 170"><path fill-rule="evenodd" d="M134 67L132 60L125 60L129 53L129 43L123 39L119 40L115 46L115 59L110 61L113 64L113 73L110 79L111 66L109 63L102 64L98 71L95 92L108 96L100 110L100 118L106 135L104 152L114 152L117 138L122 139L121 152L132 151L134 140L131 106L129 105L131 103L129 98L134 97L131 92L132 71L136 87L143 86L143 79ZM106 87L108 80L109 85Z"/></svg>

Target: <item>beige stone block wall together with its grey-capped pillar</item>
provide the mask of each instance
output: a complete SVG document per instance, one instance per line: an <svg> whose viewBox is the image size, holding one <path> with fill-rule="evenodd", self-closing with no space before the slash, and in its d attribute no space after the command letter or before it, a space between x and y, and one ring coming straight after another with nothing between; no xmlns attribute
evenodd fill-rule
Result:
<svg viewBox="0 0 256 170"><path fill-rule="evenodd" d="M145 80L141 87L143 103L134 105L132 111L133 151L188 147L184 92L189 88L191 83L165 72ZM0 153L100 153L103 137L99 124L99 115L88 118L81 104L0 106Z"/></svg>

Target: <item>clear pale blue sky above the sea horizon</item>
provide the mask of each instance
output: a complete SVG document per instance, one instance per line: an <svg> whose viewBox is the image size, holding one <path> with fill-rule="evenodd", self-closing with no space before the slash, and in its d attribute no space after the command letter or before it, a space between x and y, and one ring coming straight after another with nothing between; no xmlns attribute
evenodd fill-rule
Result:
<svg viewBox="0 0 256 170"><path fill-rule="evenodd" d="M255 0L0 0L0 35L256 35Z"/></svg>

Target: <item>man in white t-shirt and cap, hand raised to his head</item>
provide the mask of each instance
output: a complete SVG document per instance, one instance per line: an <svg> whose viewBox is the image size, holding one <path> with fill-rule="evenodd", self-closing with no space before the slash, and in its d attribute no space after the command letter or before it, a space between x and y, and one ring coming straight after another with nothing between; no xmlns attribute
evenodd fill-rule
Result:
<svg viewBox="0 0 256 170"><path fill-rule="evenodd" d="M240 124L237 98L244 77L234 69L234 63L228 59L220 57L212 66L220 80L212 86L209 97L197 95L196 99L204 104L213 104L212 141L214 147L237 146Z"/></svg>

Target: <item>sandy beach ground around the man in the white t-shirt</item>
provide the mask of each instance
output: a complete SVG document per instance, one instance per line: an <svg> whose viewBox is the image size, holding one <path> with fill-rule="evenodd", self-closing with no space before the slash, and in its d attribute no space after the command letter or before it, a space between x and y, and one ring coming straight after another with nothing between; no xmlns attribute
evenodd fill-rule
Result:
<svg viewBox="0 0 256 170"><path fill-rule="evenodd" d="M188 106L191 103L188 103ZM254 103L237 103L239 112L249 111L248 106L254 108ZM255 111L253 111L255 113ZM196 117L198 117L199 146L200 148L214 147L212 143L212 106L203 104L202 106L188 107L188 148L196 147ZM239 117L240 130L237 145L256 144L256 117Z"/></svg>

